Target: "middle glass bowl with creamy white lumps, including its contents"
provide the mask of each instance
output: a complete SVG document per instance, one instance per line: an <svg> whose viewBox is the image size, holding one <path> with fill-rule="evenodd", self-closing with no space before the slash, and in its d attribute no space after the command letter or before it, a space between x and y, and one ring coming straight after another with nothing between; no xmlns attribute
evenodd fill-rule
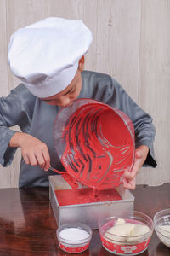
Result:
<svg viewBox="0 0 170 256"><path fill-rule="evenodd" d="M98 224L102 246L117 255L143 253L154 230L152 219L137 211L123 218L111 215L100 217Z"/></svg>

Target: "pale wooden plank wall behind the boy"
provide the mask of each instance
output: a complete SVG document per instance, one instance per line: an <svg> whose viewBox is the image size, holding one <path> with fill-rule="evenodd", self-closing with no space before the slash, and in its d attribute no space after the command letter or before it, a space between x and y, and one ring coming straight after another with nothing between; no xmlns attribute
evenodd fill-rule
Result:
<svg viewBox="0 0 170 256"><path fill-rule="evenodd" d="M153 117L158 166L142 168L137 183L170 182L170 0L0 1L0 96L20 83L8 69L10 35L48 16L84 21L94 34L86 69L114 76ZM0 188L17 187L19 169L20 150L0 167Z"/></svg>

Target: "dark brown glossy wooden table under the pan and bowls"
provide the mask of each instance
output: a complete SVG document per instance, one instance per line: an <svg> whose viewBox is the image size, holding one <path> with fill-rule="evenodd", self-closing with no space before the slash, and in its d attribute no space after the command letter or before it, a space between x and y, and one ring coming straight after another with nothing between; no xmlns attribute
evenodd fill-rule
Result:
<svg viewBox="0 0 170 256"><path fill-rule="evenodd" d="M134 209L151 218L170 207L170 183L158 187L138 185L133 191ZM77 255L59 249L57 225L48 200L48 188L0 189L0 255ZM89 249L82 256L111 256L101 245L98 230L93 231ZM141 256L167 256L154 232L149 248Z"/></svg>

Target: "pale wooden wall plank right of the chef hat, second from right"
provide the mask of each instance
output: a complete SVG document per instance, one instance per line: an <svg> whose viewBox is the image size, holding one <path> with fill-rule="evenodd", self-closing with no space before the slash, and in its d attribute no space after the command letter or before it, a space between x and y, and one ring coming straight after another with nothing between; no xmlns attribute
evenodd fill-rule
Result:
<svg viewBox="0 0 170 256"><path fill-rule="evenodd" d="M97 67L122 84L138 100L141 3L98 1Z"/></svg>

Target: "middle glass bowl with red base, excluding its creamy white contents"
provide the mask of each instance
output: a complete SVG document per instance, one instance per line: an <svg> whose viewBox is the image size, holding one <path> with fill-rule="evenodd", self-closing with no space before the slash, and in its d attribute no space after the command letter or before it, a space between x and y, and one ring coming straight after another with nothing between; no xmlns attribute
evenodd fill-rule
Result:
<svg viewBox="0 0 170 256"><path fill-rule="evenodd" d="M105 232L116 224L119 218L115 216L107 216L99 218L99 234L103 247L110 253L117 255L138 255L143 253L150 242L153 233L154 224L152 219L142 212L133 212L133 216L122 218L126 223L147 225L150 231L140 236L116 236L113 238L105 236ZM108 234L108 233L107 233Z"/></svg>

